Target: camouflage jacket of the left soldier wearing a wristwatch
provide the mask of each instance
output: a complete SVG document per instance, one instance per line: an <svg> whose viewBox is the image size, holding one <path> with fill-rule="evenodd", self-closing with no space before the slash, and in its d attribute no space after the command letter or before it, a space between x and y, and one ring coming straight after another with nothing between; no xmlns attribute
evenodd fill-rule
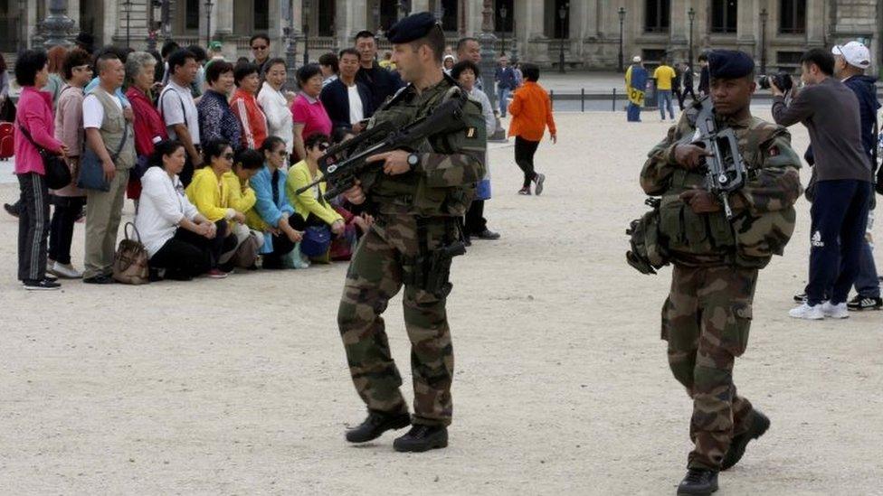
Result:
<svg viewBox="0 0 883 496"><path fill-rule="evenodd" d="M369 126L392 122L405 126L425 117L450 97L457 83L445 76L441 82L417 93L413 85L400 89L374 117ZM368 189L368 200L380 213L421 216L461 216L475 195L476 183L485 173L487 131L481 104L469 98L463 108L463 128L457 133L430 136L408 146L419 154L413 173L377 174Z"/></svg>

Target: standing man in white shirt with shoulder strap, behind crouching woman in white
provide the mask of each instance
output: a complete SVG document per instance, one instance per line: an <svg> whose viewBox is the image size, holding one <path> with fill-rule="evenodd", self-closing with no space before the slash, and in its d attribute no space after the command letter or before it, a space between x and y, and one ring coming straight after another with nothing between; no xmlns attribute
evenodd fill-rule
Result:
<svg viewBox="0 0 883 496"><path fill-rule="evenodd" d="M199 115L190 92L199 64L191 51L177 50L168 58L168 85L159 94L157 107L166 122L168 137L176 139L187 151L187 163L179 174L185 187L190 184L196 168L203 164L199 153Z"/></svg>

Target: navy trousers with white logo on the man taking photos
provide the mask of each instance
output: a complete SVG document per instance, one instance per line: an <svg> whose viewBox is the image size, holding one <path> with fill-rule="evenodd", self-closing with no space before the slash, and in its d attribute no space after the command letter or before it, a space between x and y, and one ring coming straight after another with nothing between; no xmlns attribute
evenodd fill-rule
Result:
<svg viewBox="0 0 883 496"><path fill-rule="evenodd" d="M859 259L868 226L870 188L868 182L844 179L820 181L810 216L810 282L808 304L825 300L831 289L831 304L846 302L859 274Z"/></svg>

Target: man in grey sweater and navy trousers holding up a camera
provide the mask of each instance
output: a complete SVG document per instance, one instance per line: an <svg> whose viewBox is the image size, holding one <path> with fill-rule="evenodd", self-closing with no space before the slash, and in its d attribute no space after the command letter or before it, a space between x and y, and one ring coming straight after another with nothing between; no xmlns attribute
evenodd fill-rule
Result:
<svg viewBox="0 0 883 496"><path fill-rule="evenodd" d="M785 104L771 80L777 124L801 122L810 132L815 166L807 196L812 199L810 276L806 301L792 317L819 320L849 316L847 296L859 274L859 254L868 223L871 164L861 143L859 100L834 73L834 56L822 49L801 57L805 88ZM826 290L831 289L830 299ZM827 301L826 301L827 300Z"/></svg>

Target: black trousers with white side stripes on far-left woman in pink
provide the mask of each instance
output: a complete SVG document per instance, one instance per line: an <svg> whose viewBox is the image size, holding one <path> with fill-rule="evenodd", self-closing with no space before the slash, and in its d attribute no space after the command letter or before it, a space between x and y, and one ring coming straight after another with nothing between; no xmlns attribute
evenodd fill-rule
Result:
<svg viewBox="0 0 883 496"><path fill-rule="evenodd" d="M22 192L18 211L18 278L39 281L46 276L46 240L49 238L49 190L38 173L18 174Z"/></svg>

